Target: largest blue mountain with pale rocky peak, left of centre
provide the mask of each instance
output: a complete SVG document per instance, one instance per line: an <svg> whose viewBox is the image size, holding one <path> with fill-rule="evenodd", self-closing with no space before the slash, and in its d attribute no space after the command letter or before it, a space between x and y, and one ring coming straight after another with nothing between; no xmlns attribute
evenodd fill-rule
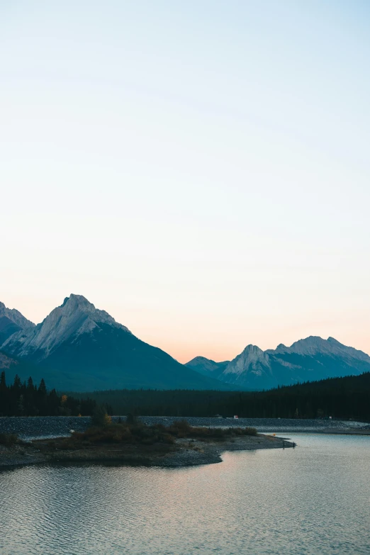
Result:
<svg viewBox="0 0 370 555"><path fill-rule="evenodd" d="M1 349L32 363L36 380L42 376L48 387L64 391L230 388L142 342L81 295L65 298L42 323L14 333Z"/></svg>

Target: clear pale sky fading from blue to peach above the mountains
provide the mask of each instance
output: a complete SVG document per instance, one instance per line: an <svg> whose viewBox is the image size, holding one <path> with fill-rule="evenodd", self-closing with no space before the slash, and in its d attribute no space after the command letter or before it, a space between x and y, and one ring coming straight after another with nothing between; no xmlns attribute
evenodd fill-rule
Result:
<svg viewBox="0 0 370 555"><path fill-rule="evenodd" d="M181 362L370 353L370 4L0 0L0 301Z"/></svg>

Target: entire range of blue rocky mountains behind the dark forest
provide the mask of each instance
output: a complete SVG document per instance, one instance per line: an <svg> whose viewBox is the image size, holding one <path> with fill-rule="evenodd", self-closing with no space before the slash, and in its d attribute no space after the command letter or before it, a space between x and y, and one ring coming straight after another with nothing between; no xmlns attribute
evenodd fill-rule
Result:
<svg viewBox="0 0 370 555"><path fill-rule="evenodd" d="M59 391L261 390L361 374L370 370L370 357L333 337L311 336L266 351L250 344L231 361L196 357L184 365L71 294L38 325L0 303L0 369L9 379L43 377Z"/></svg>

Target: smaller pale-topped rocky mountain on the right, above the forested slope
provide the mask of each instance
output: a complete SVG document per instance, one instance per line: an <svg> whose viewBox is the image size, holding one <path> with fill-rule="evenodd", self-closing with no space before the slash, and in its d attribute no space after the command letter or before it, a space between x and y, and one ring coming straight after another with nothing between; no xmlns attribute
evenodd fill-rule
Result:
<svg viewBox="0 0 370 555"><path fill-rule="evenodd" d="M194 360L198 359L203 360L203 357ZM214 365L223 364L211 362ZM196 365L192 367L196 369ZM358 375L364 371L370 371L368 354L347 347L333 337L323 340L311 336L293 343L291 347L279 344L276 349L267 351L248 345L222 371L217 372L216 377L237 388L261 390L303 381Z"/></svg>

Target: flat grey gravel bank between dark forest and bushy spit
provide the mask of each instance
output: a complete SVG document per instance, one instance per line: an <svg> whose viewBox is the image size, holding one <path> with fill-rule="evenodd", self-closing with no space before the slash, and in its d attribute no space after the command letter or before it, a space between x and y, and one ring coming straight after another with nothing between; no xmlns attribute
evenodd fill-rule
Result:
<svg viewBox="0 0 370 555"><path fill-rule="evenodd" d="M123 416L124 420L125 417ZM142 416L145 424L162 423L169 425L184 417ZM113 417L118 420L118 417ZM192 426L232 427L252 426L258 432L276 434L289 432L353 432L355 430L370 430L366 422L341 420L299 420L288 418L196 418L187 417L185 420ZM22 439L43 437L58 437L69 435L70 430L84 432L89 427L89 417L69 416L38 416L38 417L0 417L0 433L14 433Z"/></svg>

